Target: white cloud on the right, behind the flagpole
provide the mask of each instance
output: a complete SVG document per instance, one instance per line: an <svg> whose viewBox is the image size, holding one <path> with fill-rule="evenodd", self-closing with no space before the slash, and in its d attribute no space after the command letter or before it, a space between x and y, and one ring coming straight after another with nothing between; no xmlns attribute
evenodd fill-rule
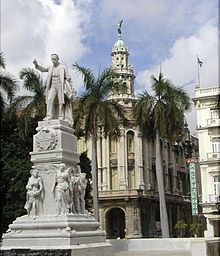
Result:
<svg viewBox="0 0 220 256"><path fill-rule="evenodd" d="M200 68L201 86L218 86L218 29L211 21L205 23L195 35L177 39L169 49L169 57L161 60L164 76L176 86L184 86L192 98L195 96L195 83L198 82L197 54L203 61ZM152 74L158 76L159 70L160 63L140 71L136 78L140 89L150 90L150 77ZM190 129L195 130L195 110L192 110L187 119Z"/></svg>

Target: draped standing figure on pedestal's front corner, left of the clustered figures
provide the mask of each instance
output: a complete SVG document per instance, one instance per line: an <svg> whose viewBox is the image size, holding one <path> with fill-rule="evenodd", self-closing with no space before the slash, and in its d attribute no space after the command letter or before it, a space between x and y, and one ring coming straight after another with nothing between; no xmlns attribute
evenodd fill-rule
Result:
<svg viewBox="0 0 220 256"><path fill-rule="evenodd" d="M70 175L69 169L65 169L65 164L57 166L57 173L52 187L52 193L57 202L57 214L68 214L70 212Z"/></svg>

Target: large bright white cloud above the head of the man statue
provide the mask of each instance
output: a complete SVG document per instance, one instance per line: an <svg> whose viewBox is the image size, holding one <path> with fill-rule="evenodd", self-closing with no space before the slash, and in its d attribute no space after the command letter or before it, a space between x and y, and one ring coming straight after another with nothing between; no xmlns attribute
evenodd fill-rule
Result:
<svg viewBox="0 0 220 256"><path fill-rule="evenodd" d="M53 52L71 68L89 50L83 40L90 13L72 0L7 0L2 10L2 51L7 70L15 75L23 67L33 67L33 58L50 65Z"/></svg>

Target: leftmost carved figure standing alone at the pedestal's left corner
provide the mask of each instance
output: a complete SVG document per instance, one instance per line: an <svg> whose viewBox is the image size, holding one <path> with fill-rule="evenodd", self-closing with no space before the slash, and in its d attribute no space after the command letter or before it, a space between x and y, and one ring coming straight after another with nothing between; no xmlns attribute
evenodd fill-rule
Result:
<svg viewBox="0 0 220 256"><path fill-rule="evenodd" d="M39 205L42 203L43 182L42 178L38 176L37 169L33 167L30 173L31 177L26 185L27 195L24 208L27 210L28 216L33 212L33 218L35 219L39 214Z"/></svg>

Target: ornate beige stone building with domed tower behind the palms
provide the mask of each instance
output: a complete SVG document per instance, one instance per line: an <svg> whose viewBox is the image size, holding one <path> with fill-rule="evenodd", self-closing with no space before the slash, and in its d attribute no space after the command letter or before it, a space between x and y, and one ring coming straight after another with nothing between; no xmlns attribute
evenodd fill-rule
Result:
<svg viewBox="0 0 220 256"><path fill-rule="evenodd" d="M155 172L155 145L142 137L131 118L134 95L134 70L128 62L128 49L118 37L112 49L112 67L117 71L127 93L111 95L127 112L129 126L120 128L113 140L98 136L98 187L101 226L108 238L159 237L160 213ZM186 127L187 130L187 127ZM171 236L178 220L191 221L189 173L185 161L187 145L197 150L198 141L186 138L170 145L162 141L165 192ZM80 151L88 151L91 143L79 141ZM190 152L190 156L192 152Z"/></svg>

